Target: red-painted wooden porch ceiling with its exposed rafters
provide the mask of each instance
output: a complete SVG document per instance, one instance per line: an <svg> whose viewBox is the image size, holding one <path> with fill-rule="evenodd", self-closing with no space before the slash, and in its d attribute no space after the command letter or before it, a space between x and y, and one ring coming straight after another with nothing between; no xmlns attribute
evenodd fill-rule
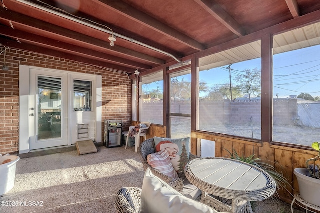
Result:
<svg viewBox="0 0 320 213"><path fill-rule="evenodd" d="M274 27L285 31L311 13L315 23L318 11L319 0L3 0L0 38L12 48L144 76Z"/></svg>

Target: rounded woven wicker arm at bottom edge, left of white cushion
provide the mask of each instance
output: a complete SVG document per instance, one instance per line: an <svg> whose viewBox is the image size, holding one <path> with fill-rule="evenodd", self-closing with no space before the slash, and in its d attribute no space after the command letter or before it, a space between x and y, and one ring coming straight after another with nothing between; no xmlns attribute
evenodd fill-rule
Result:
<svg viewBox="0 0 320 213"><path fill-rule="evenodd" d="M137 187L122 187L114 198L118 213L139 213L141 209L141 192Z"/></svg>

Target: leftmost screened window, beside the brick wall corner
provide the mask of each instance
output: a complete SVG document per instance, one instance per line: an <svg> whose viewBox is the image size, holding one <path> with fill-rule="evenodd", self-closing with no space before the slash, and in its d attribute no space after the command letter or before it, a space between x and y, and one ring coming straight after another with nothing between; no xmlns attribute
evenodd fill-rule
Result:
<svg viewBox="0 0 320 213"><path fill-rule="evenodd" d="M141 77L140 121L163 124L163 71Z"/></svg>

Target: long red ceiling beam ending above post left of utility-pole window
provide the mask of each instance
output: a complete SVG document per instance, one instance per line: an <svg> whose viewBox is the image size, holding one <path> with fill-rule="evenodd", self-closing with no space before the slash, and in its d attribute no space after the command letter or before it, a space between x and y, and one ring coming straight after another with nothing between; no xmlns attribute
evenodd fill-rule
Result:
<svg viewBox="0 0 320 213"><path fill-rule="evenodd" d="M165 36L169 36L170 38L178 42L181 42L193 49L196 49L199 51L205 49L205 46L203 44L199 43L193 38L188 37L187 35L177 31L176 29L168 25L165 25L164 23L156 20L155 18L147 15L144 12L141 12L140 10L122 1L116 1L116 0L92 0L92 1L98 3L101 6L108 7L113 11L121 15L124 15L127 18L134 20L139 24L142 24L143 26L151 28Z"/></svg>

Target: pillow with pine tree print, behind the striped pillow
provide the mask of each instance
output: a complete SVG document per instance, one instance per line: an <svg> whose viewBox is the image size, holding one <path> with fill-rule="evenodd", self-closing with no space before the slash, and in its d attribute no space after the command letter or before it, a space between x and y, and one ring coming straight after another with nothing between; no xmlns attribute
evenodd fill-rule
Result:
<svg viewBox="0 0 320 213"><path fill-rule="evenodd" d="M184 172L185 165L189 162L190 137L187 138L160 138L153 137L155 152L166 149L172 165L177 172Z"/></svg>

